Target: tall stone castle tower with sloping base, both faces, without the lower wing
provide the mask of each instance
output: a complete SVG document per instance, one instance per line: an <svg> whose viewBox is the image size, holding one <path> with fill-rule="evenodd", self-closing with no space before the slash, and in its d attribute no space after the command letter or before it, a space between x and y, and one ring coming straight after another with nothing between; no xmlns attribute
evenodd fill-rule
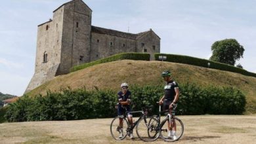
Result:
<svg viewBox="0 0 256 144"><path fill-rule="evenodd" d="M91 14L83 1L74 0L54 10L53 20L38 26L35 73L25 93L89 62Z"/></svg>

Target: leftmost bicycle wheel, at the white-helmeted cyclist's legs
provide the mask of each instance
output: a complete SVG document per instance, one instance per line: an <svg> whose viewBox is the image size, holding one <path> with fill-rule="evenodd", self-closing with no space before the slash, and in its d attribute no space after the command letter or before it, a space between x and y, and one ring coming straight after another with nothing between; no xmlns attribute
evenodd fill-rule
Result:
<svg viewBox="0 0 256 144"><path fill-rule="evenodd" d="M123 128L119 126L119 117L115 117L110 124L110 133L116 140L122 140L127 136L128 122L126 118L123 119Z"/></svg>

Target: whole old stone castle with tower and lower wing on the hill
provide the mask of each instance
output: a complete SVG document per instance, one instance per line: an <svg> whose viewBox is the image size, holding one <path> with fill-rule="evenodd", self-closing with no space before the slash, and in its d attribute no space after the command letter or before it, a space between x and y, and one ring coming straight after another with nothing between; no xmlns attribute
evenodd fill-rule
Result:
<svg viewBox="0 0 256 144"><path fill-rule="evenodd" d="M154 53L160 52L160 37L152 29L125 33L92 26L91 18L92 10L83 1L73 0L38 26L35 73L25 93L81 63L121 52L146 52L153 60Z"/></svg>

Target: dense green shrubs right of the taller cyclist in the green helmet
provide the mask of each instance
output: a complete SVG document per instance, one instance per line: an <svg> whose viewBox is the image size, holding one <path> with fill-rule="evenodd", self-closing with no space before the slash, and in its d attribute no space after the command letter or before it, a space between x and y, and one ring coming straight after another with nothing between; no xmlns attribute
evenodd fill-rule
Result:
<svg viewBox="0 0 256 144"><path fill-rule="evenodd" d="M181 87L179 107L186 115L238 115L245 111L245 96L232 87L218 88L208 86L200 88L196 84L184 84Z"/></svg>

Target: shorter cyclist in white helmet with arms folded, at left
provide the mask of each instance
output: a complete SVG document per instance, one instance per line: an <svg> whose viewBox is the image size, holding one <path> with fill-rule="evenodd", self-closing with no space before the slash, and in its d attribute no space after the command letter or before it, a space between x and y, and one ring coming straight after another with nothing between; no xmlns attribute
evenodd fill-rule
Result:
<svg viewBox="0 0 256 144"><path fill-rule="evenodd" d="M123 114L127 110L128 120L131 126L133 126L133 115L131 115L131 92L128 90L128 84L121 84L121 91L117 93L118 96L118 107L117 107L117 115L119 117L119 126L118 128L121 130L121 134L119 137L123 137ZM126 109L125 109L126 108ZM133 133L129 135L131 139L133 139Z"/></svg>

